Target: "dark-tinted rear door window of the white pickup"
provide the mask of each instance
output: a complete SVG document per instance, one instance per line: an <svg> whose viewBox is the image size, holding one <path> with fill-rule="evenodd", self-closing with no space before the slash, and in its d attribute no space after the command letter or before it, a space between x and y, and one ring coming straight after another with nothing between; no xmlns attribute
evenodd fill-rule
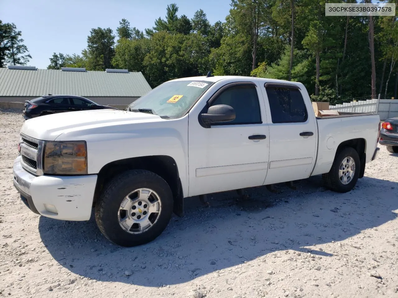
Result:
<svg viewBox="0 0 398 298"><path fill-rule="evenodd" d="M288 87L267 87L272 123L306 122L307 109L300 90Z"/></svg>

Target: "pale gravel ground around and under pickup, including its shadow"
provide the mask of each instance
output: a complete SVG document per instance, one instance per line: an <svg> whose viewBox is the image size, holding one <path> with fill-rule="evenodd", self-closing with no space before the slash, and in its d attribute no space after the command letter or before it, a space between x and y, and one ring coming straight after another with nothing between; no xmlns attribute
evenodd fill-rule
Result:
<svg viewBox="0 0 398 298"><path fill-rule="evenodd" d="M398 297L397 154L354 190L319 176L188 200L154 242L110 244L92 219L35 215L12 185L21 114L0 112L0 297Z"/></svg>

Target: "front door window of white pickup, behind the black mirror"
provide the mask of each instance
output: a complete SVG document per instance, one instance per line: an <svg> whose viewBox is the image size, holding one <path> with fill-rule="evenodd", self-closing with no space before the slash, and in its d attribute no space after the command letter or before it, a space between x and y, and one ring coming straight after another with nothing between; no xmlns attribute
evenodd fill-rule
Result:
<svg viewBox="0 0 398 298"><path fill-rule="evenodd" d="M236 86L222 92L211 104L227 104L232 106L236 113L233 121L225 124L259 124L261 112L257 90L254 86Z"/></svg>

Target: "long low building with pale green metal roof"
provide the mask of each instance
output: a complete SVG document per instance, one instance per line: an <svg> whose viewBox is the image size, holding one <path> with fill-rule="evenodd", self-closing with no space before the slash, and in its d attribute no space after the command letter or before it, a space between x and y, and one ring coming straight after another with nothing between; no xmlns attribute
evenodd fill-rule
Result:
<svg viewBox="0 0 398 298"><path fill-rule="evenodd" d="M25 102L42 95L78 95L99 104L126 106L151 90L141 72L85 68L0 68L0 102Z"/></svg>

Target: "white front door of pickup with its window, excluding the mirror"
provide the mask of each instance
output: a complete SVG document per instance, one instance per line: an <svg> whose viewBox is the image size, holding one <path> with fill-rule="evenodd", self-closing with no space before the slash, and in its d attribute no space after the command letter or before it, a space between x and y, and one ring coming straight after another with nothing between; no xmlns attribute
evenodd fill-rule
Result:
<svg viewBox="0 0 398 298"><path fill-rule="evenodd" d="M203 127L198 114L216 104L232 106L235 120ZM259 85L226 84L198 112L189 114L189 196L262 185L269 131Z"/></svg>

